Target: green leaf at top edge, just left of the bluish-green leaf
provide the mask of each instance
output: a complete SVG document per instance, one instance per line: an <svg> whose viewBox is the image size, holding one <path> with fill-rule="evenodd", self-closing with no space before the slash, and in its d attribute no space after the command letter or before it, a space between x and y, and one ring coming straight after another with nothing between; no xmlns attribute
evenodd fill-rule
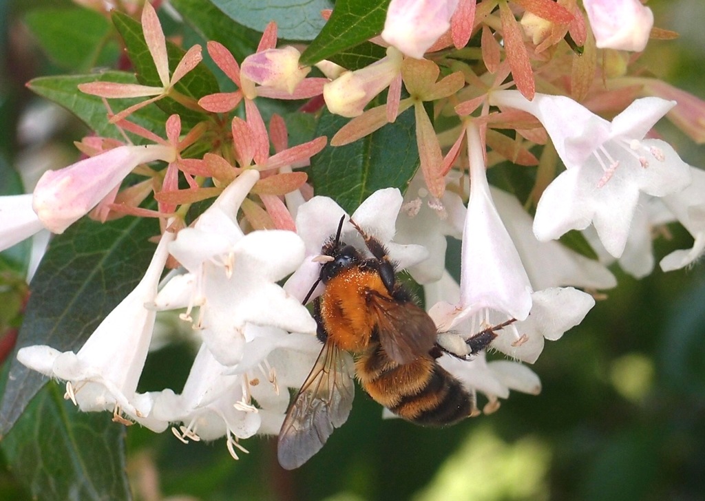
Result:
<svg viewBox="0 0 705 501"><path fill-rule="evenodd" d="M223 16L210 1L172 0L171 5L204 39L220 42L236 60L242 62L257 50L262 35Z"/></svg>

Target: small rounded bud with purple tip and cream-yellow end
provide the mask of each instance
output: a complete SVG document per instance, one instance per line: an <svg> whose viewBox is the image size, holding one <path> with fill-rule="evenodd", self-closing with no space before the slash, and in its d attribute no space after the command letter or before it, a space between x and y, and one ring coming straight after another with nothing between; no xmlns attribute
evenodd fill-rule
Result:
<svg viewBox="0 0 705 501"><path fill-rule="evenodd" d="M311 70L308 66L299 66L300 56L293 47L256 52L243 61L240 78L292 94Z"/></svg>

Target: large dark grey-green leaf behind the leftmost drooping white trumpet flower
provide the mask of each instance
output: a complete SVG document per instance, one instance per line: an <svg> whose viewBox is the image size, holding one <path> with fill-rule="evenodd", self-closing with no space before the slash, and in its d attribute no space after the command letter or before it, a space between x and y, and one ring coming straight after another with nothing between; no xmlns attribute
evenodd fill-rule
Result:
<svg viewBox="0 0 705 501"><path fill-rule="evenodd" d="M155 248L147 239L157 232L157 223L144 218L103 224L83 218L56 235L30 284L17 349L49 345L77 350L142 278ZM0 435L47 382L14 354L11 359L11 383L0 403Z"/></svg>

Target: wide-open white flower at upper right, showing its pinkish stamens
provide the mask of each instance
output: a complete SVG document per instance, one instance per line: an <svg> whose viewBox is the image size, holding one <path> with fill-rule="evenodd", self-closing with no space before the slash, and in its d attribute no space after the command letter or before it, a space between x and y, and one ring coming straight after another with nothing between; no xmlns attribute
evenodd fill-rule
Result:
<svg viewBox="0 0 705 501"><path fill-rule="evenodd" d="M612 122L564 96L492 92L490 104L531 113L551 136L565 164L541 195L534 218L539 240L594 224L605 249L621 256L639 193L664 197L690 183L689 166L670 144L644 139L675 102L656 97L634 101Z"/></svg>

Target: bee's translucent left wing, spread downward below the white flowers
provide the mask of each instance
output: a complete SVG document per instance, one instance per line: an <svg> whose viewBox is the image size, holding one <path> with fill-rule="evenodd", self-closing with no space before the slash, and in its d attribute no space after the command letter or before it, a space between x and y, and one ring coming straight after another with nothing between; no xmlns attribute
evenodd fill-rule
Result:
<svg viewBox="0 0 705 501"><path fill-rule="evenodd" d="M281 425L279 464L295 469L321 450L348 419L354 395L352 357L326 342Z"/></svg>

